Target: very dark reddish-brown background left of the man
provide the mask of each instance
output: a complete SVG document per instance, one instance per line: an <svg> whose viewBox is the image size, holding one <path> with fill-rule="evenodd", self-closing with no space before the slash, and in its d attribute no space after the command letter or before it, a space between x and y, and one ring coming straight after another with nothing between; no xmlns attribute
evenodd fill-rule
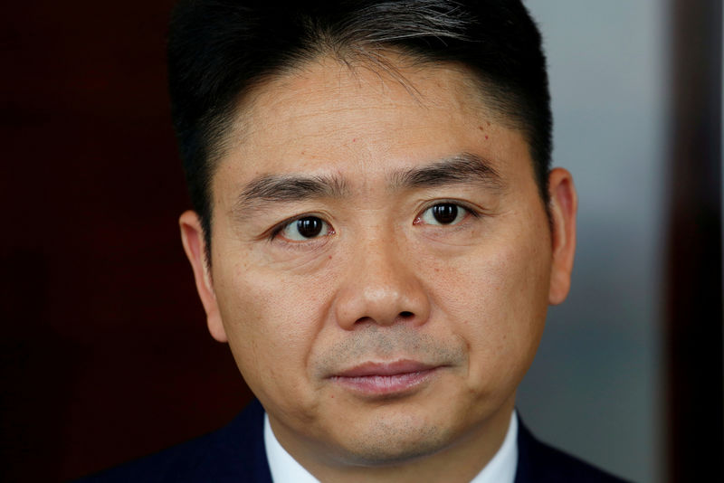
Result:
<svg viewBox="0 0 724 483"><path fill-rule="evenodd" d="M0 481L62 481L186 440L248 400L178 236L173 0L0 14Z"/></svg>

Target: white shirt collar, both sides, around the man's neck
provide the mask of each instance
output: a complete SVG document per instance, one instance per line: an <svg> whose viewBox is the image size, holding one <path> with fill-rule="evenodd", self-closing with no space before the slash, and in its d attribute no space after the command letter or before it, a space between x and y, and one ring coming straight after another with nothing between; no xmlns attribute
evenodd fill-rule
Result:
<svg viewBox="0 0 724 483"><path fill-rule="evenodd" d="M274 483L319 483L317 478L311 476L291 454L281 447L279 440L271 431L269 416L264 413L264 446L266 459L271 469L271 481ZM513 483L515 470L518 465L518 416L516 412L510 415L508 432L503 444L495 456L485 465L485 468L471 483Z"/></svg>

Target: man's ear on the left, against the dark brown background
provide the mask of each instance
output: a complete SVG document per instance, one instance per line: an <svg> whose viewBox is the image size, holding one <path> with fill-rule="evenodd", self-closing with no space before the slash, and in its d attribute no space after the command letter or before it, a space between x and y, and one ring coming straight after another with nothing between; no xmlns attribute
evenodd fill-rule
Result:
<svg viewBox="0 0 724 483"><path fill-rule="evenodd" d="M209 265L206 263L205 239L201 220L195 212L187 211L178 219L178 224L181 227L181 241L184 243L186 257L194 270L196 290L201 298L201 303L204 304L209 332L219 342L226 342L226 331L221 321L219 307L216 304Z"/></svg>

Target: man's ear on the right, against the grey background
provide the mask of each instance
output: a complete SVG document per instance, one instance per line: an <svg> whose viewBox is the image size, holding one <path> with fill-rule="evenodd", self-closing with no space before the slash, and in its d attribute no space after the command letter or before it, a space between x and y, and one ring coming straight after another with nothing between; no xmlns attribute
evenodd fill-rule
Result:
<svg viewBox="0 0 724 483"><path fill-rule="evenodd" d="M553 245L548 303L557 305L568 295L576 252L578 197L576 186L573 185L573 176L561 167L553 169L548 176L548 194Z"/></svg>

